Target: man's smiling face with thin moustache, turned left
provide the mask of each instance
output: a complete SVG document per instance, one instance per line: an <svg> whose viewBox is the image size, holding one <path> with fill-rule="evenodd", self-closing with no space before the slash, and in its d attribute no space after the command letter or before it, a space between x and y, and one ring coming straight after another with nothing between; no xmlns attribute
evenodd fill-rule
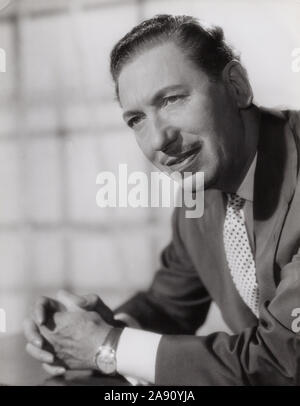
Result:
<svg viewBox="0 0 300 406"><path fill-rule="evenodd" d="M168 42L127 63L118 84L124 119L146 157L169 175L202 171L205 188L218 187L241 146L238 110L224 83L210 81ZM203 187L195 175L193 182L193 191Z"/></svg>

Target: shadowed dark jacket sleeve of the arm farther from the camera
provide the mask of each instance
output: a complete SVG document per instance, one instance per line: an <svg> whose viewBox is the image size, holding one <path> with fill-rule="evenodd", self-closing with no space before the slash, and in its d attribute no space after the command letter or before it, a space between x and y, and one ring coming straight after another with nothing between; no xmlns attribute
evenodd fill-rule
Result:
<svg viewBox="0 0 300 406"><path fill-rule="evenodd" d="M115 310L129 314L144 330L162 334L194 334L211 303L180 238L179 210L174 211L172 242L162 252L152 285Z"/></svg>

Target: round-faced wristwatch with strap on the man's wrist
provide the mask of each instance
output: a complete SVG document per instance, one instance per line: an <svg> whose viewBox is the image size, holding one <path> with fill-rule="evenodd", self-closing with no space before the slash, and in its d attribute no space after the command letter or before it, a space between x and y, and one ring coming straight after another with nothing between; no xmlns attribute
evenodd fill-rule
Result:
<svg viewBox="0 0 300 406"><path fill-rule="evenodd" d="M95 364L103 374L115 375L117 372L116 352L123 330L124 328L113 327L96 352Z"/></svg>

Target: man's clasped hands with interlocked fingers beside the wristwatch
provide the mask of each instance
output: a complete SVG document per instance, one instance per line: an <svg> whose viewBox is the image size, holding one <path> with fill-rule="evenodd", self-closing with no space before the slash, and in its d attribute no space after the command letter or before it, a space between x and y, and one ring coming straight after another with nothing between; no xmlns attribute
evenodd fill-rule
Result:
<svg viewBox="0 0 300 406"><path fill-rule="evenodd" d="M56 300L41 297L24 321L26 350L51 375L95 369L96 351L112 327L120 322L97 295L60 291Z"/></svg>

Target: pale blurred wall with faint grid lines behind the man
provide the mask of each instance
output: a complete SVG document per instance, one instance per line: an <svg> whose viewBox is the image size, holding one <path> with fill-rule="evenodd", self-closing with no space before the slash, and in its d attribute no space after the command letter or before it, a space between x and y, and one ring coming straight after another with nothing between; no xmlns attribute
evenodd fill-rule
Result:
<svg viewBox="0 0 300 406"><path fill-rule="evenodd" d="M7 330L59 288L116 306L146 288L170 237L169 209L100 209L96 176L150 171L121 120L109 52L136 23L184 13L224 28L255 100L300 107L300 1L15 0L0 13L0 308ZM219 316L214 313L212 324Z"/></svg>

